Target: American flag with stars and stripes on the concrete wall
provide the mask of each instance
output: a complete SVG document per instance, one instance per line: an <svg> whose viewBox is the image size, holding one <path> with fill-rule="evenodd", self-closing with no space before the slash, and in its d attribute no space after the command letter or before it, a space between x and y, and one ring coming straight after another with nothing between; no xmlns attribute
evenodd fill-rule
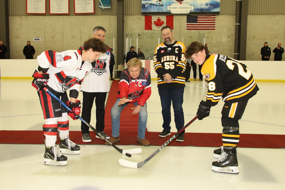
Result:
<svg viewBox="0 0 285 190"><path fill-rule="evenodd" d="M186 30L215 30L216 15L187 15Z"/></svg>

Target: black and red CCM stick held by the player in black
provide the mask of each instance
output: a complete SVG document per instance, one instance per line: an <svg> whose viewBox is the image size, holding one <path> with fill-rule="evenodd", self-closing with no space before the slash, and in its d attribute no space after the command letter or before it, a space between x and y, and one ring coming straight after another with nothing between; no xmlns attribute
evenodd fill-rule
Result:
<svg viewBox="0 0 285 190"><path fill-rule="evenodd" d="M145 159L143 162L137 163L137 162L130 162L125 159L119 159L119 163L122 166L125 167L132 167L132 168L140 168L142 167L146 162L148 162L154 155L156 155L159 151L161 151L162 148L166 147L172 140L174 140L178 134L180 134L184 129L186 129L191 123L193 123L198 118L198 115L196 115L191 121L189 121L188 124L186 124L182 129L180 129L175 135L173 135L164 145L159 147L154 153L151 154L147 159Z"/></svg>

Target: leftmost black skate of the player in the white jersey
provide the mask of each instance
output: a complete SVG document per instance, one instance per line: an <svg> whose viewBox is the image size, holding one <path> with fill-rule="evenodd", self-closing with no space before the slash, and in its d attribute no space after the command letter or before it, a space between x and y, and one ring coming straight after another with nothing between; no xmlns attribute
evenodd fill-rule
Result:
<svg viewBox="0 0 285 190"><path fill-rule="evenodd" d="M56 156L55 156L56 154ZM67 157L58 153L56 147L45 148L44 164L50 166L65 166Z"/></svg>

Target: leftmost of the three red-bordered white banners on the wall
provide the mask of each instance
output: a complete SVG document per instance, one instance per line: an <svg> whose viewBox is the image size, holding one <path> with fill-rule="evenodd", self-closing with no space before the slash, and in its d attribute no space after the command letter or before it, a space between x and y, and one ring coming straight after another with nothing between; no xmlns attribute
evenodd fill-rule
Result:
<svg viewBox="0 0 285 190"><path fill-rule="evenodd" d="M47 2L45 0L26 0L27 14L46 14Z"/></svg>

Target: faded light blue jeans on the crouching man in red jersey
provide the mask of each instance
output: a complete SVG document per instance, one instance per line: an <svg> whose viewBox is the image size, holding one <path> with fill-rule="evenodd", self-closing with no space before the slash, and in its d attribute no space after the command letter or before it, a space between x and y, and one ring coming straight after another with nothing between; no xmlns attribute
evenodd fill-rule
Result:
<svg viewBox="0 0 285 190"><path fill-rule="evenodd" d="M112 118L112 136L118 137L120 135L120 117L121 112L129 103L124 103L122 105L118 105L120 102L120 98L117 99L115 104L111 109L111 118ZM137 102L133 103L137 106ZM144 106L141 107L139 112L139 124L138 124L138 132L137 138L144 139L145 138L145 129L146 129L146 122L148 121L148 112L146 110L146 103Z"/></svg>

